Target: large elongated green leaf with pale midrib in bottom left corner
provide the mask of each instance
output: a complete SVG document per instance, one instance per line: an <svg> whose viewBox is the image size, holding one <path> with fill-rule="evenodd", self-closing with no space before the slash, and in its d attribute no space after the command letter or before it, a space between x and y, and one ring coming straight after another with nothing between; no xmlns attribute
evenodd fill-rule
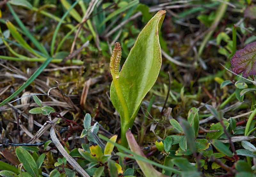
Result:
<svg viewBox="0 0 256 177"><path fill-rule="evenodd" d="M22 149L21 147L16 148L16 155L19 158L20 162L23 163L25 170L31 176L39 176L38 167L36 165L36 161L29 154L27 150Z"/></svg>

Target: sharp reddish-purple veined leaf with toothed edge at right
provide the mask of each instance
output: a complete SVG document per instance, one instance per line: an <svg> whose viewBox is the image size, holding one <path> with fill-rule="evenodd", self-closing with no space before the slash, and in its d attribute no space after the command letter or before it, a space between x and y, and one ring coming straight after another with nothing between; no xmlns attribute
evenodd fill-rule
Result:
<svg viewBox="0 0 256 177"><path fill-rule="evenodd" d="M256 74L256 42L247 44L244 49L236 51L231 58L232 71L236 74L243 72L243 77Z"/></svg>

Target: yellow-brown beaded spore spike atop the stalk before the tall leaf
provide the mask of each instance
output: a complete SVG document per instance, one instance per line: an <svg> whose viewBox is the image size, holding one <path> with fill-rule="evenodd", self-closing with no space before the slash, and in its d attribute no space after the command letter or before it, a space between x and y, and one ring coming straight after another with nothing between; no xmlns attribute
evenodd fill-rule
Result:
<svg viewBox="0 0 256 177"><path fill-rule="evenodd" d="M110 58L110 73L112 78L119 79L119 65L122 57L121 45L119 42L115 43L115 48L113 49L111 58Z"/></svg>

